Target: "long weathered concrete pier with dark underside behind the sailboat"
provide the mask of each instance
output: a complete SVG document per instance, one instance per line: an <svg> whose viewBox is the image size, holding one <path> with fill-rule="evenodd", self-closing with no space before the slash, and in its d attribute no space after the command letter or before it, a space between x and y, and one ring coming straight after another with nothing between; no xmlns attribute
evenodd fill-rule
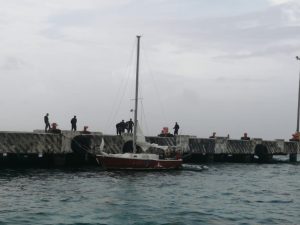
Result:
<svg viewBox="0 0 300 225"><path fill-rule="evenodd" d="M274 155L289 155L297 161L299 142L285 140L234 140L226 137L198 138L146 137L150 143L168 145L181 151L185 162L270 162ZM62 131L60 134L34 132L0 132L0 166L80 166L96 165L95 154L132 151L132 136L82 134Z"/></svg>

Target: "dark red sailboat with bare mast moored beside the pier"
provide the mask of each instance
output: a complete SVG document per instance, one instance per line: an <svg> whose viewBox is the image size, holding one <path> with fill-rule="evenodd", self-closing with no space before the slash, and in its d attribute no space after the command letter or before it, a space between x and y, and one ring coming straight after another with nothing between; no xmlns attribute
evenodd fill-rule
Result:
<svg viewBox="0 0 300 225"><path fill-rule="evenodd" d="M145 141L143 135L138 136L140 130L137 120L138 111L138 85L139 85L139 55L140 38L137 36L137 63L136 63L136 85L135 85L135 109L134 109L134 130L133 130L133 152L120 154L102 154L96 155L96 160L106 170L173 170L182 168L181 157L160 158L159 154L147 153L149 147L167 150L168 146L159 146ZM139 132L141 133L141 132ZM138 140L139 139L139 140ZM137 152L137 148L142 149L142 153Z"/></svg>

